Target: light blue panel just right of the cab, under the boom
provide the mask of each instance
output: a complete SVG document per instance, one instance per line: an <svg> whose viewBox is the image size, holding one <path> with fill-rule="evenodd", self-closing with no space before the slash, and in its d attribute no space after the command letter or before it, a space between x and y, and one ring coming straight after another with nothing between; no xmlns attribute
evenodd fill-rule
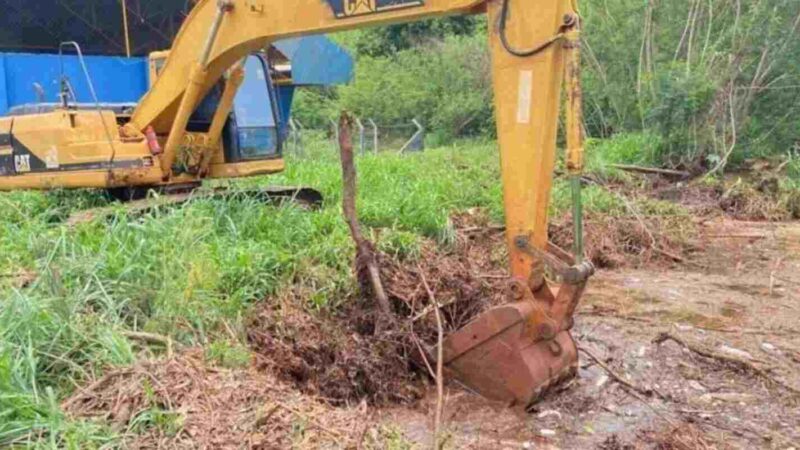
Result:
<svg viewBox="0 0 800 450"><path fill-rule="evenodd" d="M325 36L284 39L272 45L292 62L296 85L330 86L353 78L353 58Z"/></svg>

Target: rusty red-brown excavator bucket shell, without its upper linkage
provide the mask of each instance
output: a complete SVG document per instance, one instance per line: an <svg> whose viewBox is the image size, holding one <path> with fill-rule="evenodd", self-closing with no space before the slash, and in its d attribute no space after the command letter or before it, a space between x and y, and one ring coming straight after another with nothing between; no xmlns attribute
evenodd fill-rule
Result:
<svg viewBox="0 0 800 450"><path fill-rule="evenodd" d="M526 332L533 305L492 309L450 335L444 364L484 397L527 407L577 373L578 351L569 331L534 341Z"/></svg>

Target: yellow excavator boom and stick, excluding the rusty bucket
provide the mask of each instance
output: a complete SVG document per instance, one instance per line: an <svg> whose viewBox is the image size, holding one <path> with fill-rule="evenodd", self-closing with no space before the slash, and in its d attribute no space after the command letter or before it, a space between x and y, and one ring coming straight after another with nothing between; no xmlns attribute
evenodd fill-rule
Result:
<svg viewBox="0 0 800 450"><path fill-rule="evenodd" d="M566 28L577 25L573 0L200 0L128 127L141 132L153 126L159 133L169 133L172 142L165 151L169 157L170 144L176 147L180 142L188 116L202 95L226 70L271 42L479 12L489 17L512 274L527 281L536 257L519 244L525 240L539 249L547 244L566 59L558 40Z"/></svg>

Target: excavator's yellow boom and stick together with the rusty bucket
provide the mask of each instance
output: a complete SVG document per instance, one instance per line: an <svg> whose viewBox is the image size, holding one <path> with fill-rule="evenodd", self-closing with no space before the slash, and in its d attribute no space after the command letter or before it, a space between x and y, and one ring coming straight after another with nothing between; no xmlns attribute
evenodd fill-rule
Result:
<svg viewBox="0 0 800 450"><path fill-rule="evenodd" d="M577 351L569 329L592 272L586 263L554 255L547 241L565 79L570 173L582 165L574 0L200 0L126 127L141 133L152 126L169 134L161 156L169 176L189 115L223 73L250 52L288 37L474 13L489 19L512 279L509 305L448 338L445 362L479 392L527 405L574 373ZM547 265L563 275L557 293L544 278Z"/></svg>

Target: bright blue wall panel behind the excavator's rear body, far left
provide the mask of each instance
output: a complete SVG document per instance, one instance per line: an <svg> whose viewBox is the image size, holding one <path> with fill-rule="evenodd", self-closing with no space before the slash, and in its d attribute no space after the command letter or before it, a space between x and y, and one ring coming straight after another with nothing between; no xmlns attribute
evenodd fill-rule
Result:
<svg viewBox="0 0 800 450"><path fill-rule="evenodd" d="M0 91L0 114L5 114L13 106L38 102L40 99L33 83L42 86L46 102L58 100L61 73L58 55L6 53L2 56L6 84L4 96ZM92 103L78 57L65 55L63 58L64 73L69 77L78 101ZM135 103L148 89L146 58L87 56L85 60L101 102Z"/></svg>

